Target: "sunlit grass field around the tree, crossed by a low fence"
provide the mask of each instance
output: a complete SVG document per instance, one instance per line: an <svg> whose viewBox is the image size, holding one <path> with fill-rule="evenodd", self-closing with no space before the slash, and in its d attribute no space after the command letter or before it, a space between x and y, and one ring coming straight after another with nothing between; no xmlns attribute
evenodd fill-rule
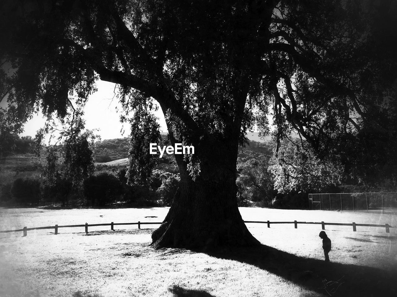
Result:
<svg viewBox="0 0 397 297"><path fill-rule="evenodd" d="M63 224L154 222L168 208L0 208L0 230ZM325 221L396 226L392 215L240 208L250 221ZM158 225L147 225L157 227ZM332 240L324 263L320 225L247 224L263 244L198 253L154 251L152 230L90 227L0 234L0 296L395 296L397 229L326 226ZM146 226L144 226L146 227ZM123 229L121 229L123 228ZM127 228L127 229L124 229ZM310 271L310 272L308 272ZM338 283L327 282L337 281Z"/></svg>

